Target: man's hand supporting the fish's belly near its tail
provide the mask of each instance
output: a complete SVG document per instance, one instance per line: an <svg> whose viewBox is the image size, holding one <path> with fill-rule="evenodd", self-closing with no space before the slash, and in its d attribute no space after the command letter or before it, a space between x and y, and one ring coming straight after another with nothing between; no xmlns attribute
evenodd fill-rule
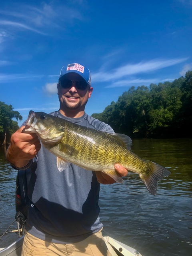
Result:
<svg viewBox="0 0 192 256"><path fill-rule="evenodd" d="M115 164L114 168L115 168L116 172L118 172L120 174L120 176L126 176L128 173L127 169L125 169L120 164ZM111 178L104 172L96 172L96 176L97 176L98 182L101 184L113 184L116 182L113 178Z"/></svg>

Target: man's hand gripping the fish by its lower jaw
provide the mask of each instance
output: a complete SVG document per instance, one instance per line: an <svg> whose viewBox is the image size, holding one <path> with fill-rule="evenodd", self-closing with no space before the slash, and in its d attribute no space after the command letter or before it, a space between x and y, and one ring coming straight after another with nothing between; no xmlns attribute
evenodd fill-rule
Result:
<svg viewBox="0 0 192 256"><path fill-rule="evenodd" d="M41 148L36 134L22 133L24 127L20 127L12 134L11 144L6 153L7 160L18 168L26 166L29 160L34 158Z"/></svg>

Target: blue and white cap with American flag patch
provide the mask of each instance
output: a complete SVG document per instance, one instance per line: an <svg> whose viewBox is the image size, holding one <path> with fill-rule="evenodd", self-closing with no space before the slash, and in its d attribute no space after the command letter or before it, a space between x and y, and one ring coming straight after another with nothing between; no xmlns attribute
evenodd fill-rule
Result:
<svg viewBox="0 0 192 256"><path fill-rule="evenodd" d="M68 64L67 66L63 66L60 72L59 81L62 80L68 73L79 74L87 82L88 85L91 85L91 74L88 68L78 63L72 63Z"/></svg>

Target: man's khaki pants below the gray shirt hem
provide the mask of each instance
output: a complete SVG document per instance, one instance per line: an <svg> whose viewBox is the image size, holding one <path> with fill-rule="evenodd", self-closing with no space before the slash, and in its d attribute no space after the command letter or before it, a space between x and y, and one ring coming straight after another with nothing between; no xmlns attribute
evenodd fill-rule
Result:
<svg viewBox="0 0 192 256"><path fill-rule="evenodd" d="M107 250L101 230L81 242L74 244L54 244L46 242L26 232L22 256L111 256Z"/></svg>

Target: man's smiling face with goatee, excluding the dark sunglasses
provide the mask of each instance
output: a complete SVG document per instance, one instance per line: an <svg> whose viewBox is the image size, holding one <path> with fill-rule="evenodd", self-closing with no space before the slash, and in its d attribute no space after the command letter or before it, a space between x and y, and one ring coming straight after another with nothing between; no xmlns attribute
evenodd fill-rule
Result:
<svg viewBox="0 0 192 256"><path fill-rule="evenodd" d="M66 74L64 78L72 81L83 81L83 78L76 73ZM60 108L63 110L66 108L68 110L84 110L86 103L92 94L92 90L93 88L89 88L89 86L87 86L84 91L78 90L75 82L67 89L62 88L62 86L58 84Z"/></svg>

